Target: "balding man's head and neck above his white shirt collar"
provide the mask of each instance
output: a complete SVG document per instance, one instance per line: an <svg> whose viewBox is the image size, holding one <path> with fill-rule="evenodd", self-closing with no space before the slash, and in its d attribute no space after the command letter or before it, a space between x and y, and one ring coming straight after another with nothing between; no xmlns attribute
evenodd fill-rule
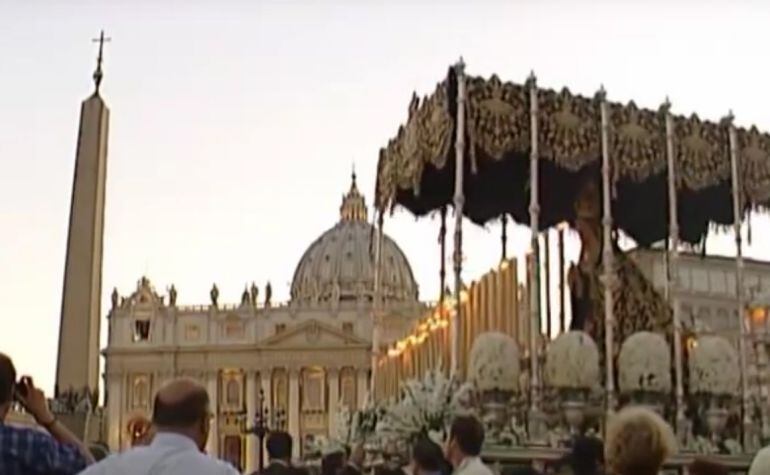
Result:
<svg viewBox="0 0 770 475"><path fill-rule="evenodd" d="M175 379L155 395L152 423L157 431L185 435L201 450L208 440L210 417L209 395L191 379Z"/></svg>

